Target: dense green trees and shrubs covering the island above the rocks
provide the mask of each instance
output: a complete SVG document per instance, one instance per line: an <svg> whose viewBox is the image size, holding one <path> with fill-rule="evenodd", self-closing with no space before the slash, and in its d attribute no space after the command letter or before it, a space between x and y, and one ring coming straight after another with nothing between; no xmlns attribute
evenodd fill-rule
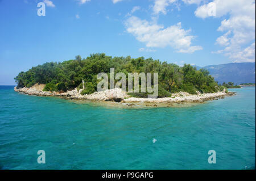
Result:
<svg viewBox="0 0 256 181"><path fill-rule="evenodd" d="M78 87L82 88L85 81L85 90L82 94L90 94L97 90L97 74L109 73L110 68L115 68L115 74L123 72L128 78L128 73L153 73L159 74L159 97L171 96L172 92L185 91L191 94L200 92L217 92L221 89L214 78L205 69L196 70L191 65L180 67L152 58L144 57L110 57L104 53L91 54L86 59L76 56L75 60L64 62L47 62L38 65L26 72L20 72L15 77L18 87L31 87L35 83L46 84L46 91L67 91ZM117 80L118 81L118 80ZM144 97L147 93L137 93L134 96Z"/></svg>

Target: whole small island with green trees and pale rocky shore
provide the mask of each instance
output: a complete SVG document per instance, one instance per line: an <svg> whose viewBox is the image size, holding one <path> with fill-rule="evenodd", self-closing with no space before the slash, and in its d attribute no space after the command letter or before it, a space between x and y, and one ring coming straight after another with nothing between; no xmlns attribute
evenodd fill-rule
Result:
<svg viewBox="0 0 256 181"><path fill-rule="evenodd" d="M151 93L147 91L123 92L121 89L114 89L107 90L104 94L97 92L97 84L100 82L97 74L103 72L109 75L112 68L115 74L124 73L126 76L128 73L158 73L157 99L148 99L147 96ZM90 54L83 59L76 56L75 60L47 62L20 72L14 79L17 83L15 91L29 95L116 102L203 102L232 94L228 92L228 88L233 86L230 82L218 85L208 70L197 70L189 64L181 67L152 58L111 57L104 53ZM141 79L139 89L141 90ZM109 98L108 94L113 98Z"/></svg>

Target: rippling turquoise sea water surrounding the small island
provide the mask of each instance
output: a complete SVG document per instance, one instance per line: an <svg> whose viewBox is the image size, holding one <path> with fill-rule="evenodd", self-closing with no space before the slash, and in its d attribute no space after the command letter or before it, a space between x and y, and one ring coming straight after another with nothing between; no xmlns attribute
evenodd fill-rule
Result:
<svg viewBox="0 0 256 181"><path fill-rule="evenodd" d="M255 87L232 91L192 107L136 110L0 86L0 169L255 168Z"/></svg>

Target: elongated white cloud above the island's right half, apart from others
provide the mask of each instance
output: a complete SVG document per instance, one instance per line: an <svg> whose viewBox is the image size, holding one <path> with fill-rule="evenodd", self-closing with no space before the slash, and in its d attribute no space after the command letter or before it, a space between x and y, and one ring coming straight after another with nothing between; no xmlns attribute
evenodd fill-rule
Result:
<svg viewBox="0 0 256 181"><path fill-rule="evenodd" d="M164 28L155 22L147 22L136 16L131 16L125 22L127 32L136 37L138 41L146 44L148 48L164 48L170 46L180 53L193 53L203 49L200 46L191 46L195 36L189 35L190 30L181 28L181 23Z"/></svg>

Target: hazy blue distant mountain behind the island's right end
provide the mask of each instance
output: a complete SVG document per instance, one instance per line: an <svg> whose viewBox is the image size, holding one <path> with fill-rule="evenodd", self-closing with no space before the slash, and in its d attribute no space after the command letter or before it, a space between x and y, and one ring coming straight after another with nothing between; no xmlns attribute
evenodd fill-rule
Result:
<svg viewBox="0 0 256 181"><path fill-rule="evenodd" d="M198 66L195 67L197 70L200 69ZM210 75L212 75L218 83L255 83L255 62L208 65L203 68L209 70Z"/></svg>

